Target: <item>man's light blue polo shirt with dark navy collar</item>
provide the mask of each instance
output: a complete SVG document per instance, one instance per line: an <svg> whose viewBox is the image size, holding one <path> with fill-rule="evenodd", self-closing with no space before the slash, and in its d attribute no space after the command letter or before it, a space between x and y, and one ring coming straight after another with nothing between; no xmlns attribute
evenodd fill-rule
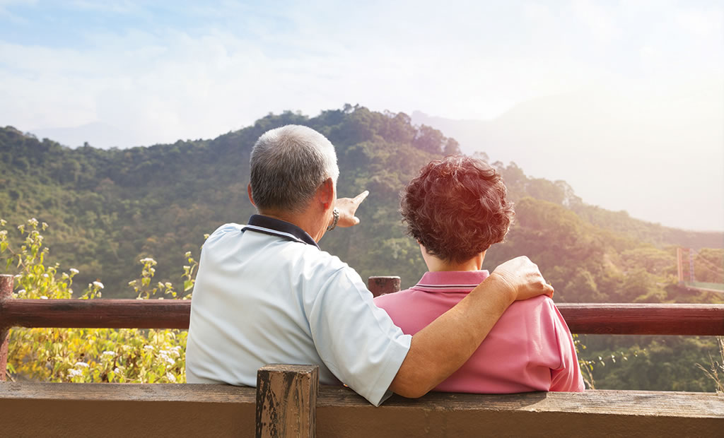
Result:
<svg viewBox="0 0 724 438"><path fill-rule="evenodd" d="M321 384L379 405L410 349L360 276L303 229L254 215L203 244L186 346L189 383L256 386L269 363L319 365Z"/></svg>

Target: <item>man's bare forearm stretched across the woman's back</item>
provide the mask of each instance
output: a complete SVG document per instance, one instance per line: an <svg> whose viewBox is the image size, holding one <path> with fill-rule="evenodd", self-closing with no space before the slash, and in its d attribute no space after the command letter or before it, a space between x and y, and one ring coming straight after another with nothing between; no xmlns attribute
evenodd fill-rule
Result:
<svg viewBox="0 0 724 438"><path fill-rule="evenodd" d="M491 275L455 307L417 332L390 389L421 397L460 368L515 300L512 285Z"/></svg>

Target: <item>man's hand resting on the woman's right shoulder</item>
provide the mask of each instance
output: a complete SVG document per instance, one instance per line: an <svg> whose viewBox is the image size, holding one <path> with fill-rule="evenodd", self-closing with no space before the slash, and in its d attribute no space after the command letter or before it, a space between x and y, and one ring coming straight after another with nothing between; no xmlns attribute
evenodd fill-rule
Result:
<svg viewBox="0 0 724 438"><path fill-rule="evenodd" d="M501 264L490 277L505 283L515 300L527 300L538 295L553 296L553 287L545 282L538 266L526 256Z"/></svg>

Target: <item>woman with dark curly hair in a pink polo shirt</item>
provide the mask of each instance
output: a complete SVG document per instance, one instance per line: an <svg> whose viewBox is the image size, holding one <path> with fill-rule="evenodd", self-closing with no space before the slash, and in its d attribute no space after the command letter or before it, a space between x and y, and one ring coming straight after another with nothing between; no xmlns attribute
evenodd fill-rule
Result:
<svg viewBox="0 0 724 438"><path fill-rule="evenodd" d="M403 221L429 271L408 290L375 298L405 334L455 306L487 276L480 267L513 218L500 174L484 161L432 161L405 188ZM573 338L546 296L513 303L471 358L435 390L511 393L583 391Z"/></svg>

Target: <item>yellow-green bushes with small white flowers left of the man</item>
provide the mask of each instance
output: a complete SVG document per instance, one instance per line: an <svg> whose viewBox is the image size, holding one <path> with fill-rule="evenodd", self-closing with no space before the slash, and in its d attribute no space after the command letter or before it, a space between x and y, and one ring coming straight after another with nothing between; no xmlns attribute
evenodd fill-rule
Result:
<svg viewBox="0 0 724 438"><path fill-rule="evenodd" d="M0 259L14 266L16 292L14 298L70 299L71 288L77 269L59 271L59 265L47 266L41 230L48 227L43 222L30 219L17 227L22 238L18 250L8 242L7 222L0 219ZM193 287L193 269L196 262L186 254L183 279ZM177 292L170 282L151 287L152 258L143 264L140 279L132 281L138 299L153 298L156 293L176 298ZM136 286L140 285L140 286ZM79 299L101 297L103 283L88 284ZM184 298L190 298L185 295ZM174 383L185 382L185 330L140 329L24 329L10 331L8 372L12 378L37 379L45 382L135 382Z"/></svg>

